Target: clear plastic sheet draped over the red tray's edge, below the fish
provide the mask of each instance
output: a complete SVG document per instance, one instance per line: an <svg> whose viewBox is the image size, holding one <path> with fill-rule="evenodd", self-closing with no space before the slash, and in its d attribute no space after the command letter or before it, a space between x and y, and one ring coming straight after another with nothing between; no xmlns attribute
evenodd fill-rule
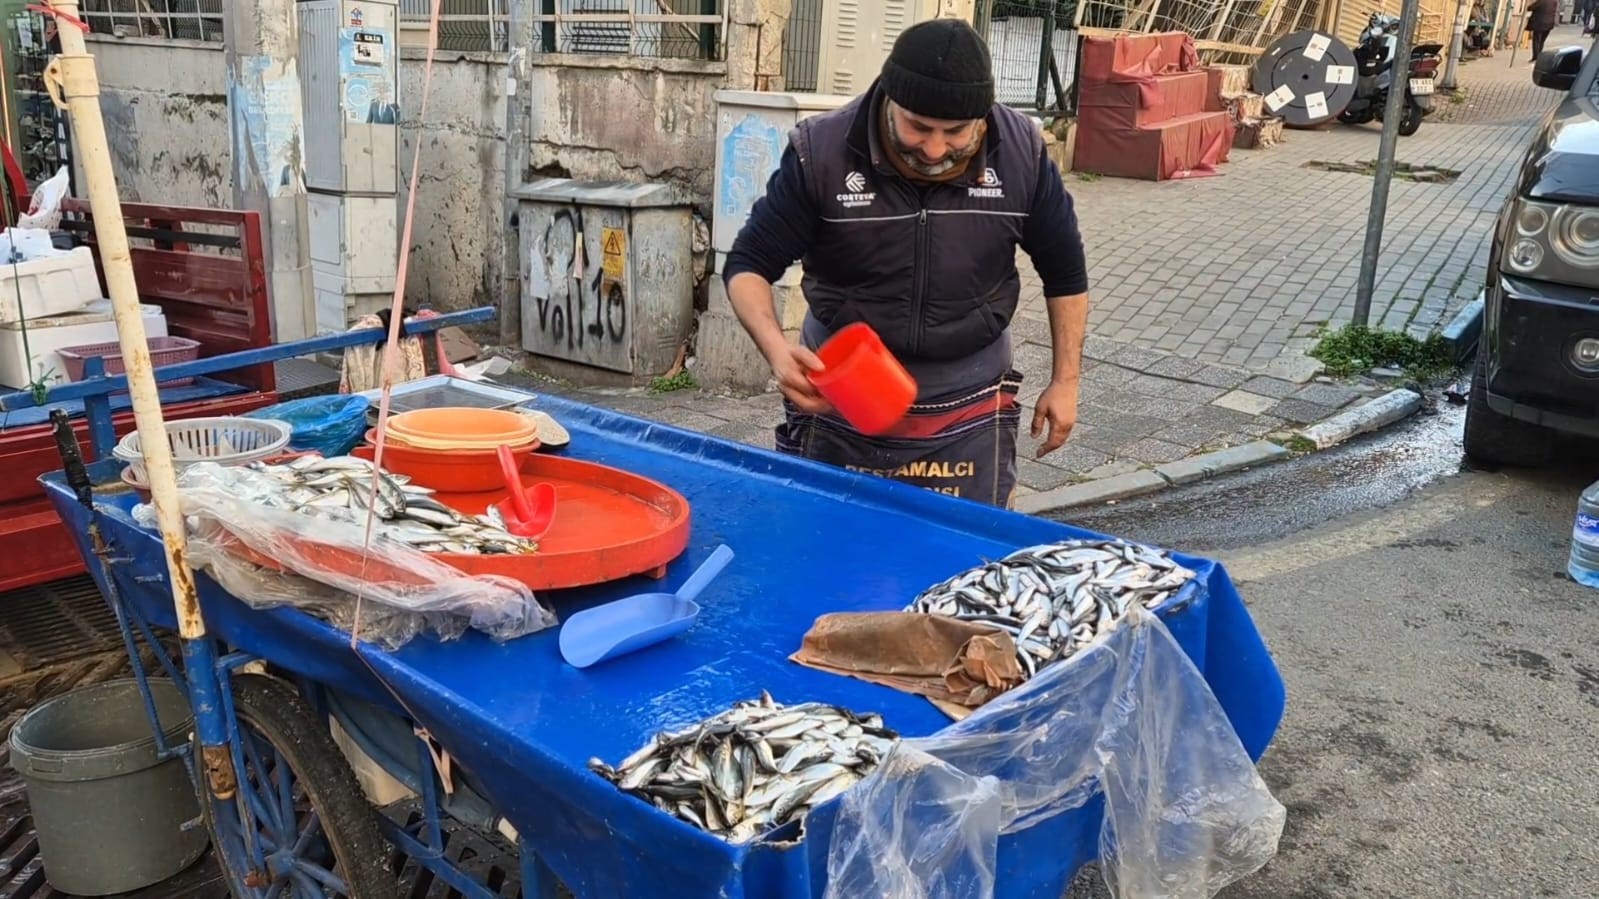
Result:
<svg viewBox="0 0 1599 899"><path fill-rule="evenodd" d="M470 627L510 640L556 624L518 581L464 574L382 528L368 544L363 521L262 502L277 489L248 467L201 462L177 475L189 563L253 608L296 606L352 630L360 595L358 637L389 649L424 632L449 640ZM154 526L154 507L134 518Z"/></svg>

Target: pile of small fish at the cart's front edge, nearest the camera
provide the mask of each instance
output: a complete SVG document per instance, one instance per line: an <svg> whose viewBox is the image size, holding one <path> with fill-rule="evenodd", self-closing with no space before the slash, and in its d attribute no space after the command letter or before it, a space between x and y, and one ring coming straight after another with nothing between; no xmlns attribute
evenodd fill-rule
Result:
<svg viewBox="0 0 1599 899"><path fill-rule="evenodd" d="M656 808L734 843L843 793L899 734L876 713L822 702L782 705L764 689L681 731L660 733L616 768L588 768Z"/></svg>

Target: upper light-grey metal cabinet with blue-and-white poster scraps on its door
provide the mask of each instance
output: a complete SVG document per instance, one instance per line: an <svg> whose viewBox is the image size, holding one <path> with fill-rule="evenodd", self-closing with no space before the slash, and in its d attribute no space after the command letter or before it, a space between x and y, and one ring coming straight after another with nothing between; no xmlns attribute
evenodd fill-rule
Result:
<svg viewBox="0 0 1599 899"><path fill-rule="evenodd" d="M400 48L395 5L299 3L305 93L305 187L395 194L400 147Z"/></svg>

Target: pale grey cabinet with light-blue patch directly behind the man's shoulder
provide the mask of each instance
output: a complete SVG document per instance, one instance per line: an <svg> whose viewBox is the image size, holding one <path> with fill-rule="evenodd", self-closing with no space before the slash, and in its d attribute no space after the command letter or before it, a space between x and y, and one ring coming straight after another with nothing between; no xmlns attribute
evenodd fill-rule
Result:
<svg viewBox="0 0 1599 899"><path fill-rule="evenodd" d="M788 149L788 131L801 118L849 102L843 94L788 91L716 91L716 181L710 243L712 270L721 272L732 240Z"/></svg>

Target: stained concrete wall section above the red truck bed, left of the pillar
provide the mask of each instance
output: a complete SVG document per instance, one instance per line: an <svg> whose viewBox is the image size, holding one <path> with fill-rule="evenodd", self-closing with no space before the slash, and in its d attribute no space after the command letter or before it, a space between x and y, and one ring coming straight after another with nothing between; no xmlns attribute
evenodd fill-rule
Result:
<svg viewBox="0 0 1599 899"><path fill-rule="evenodd" d="M98 35L88 46L122 198L230 206L222 46Z"/></svg>

